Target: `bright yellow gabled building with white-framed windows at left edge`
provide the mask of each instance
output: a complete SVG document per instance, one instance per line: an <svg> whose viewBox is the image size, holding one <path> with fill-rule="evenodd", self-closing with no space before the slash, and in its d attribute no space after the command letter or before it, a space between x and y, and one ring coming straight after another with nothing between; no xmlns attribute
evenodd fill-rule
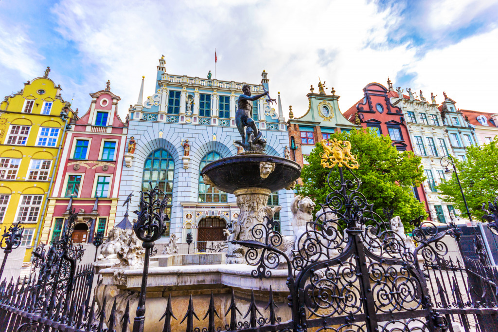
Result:
<svg viewBox="0 0 498 332"><path fill-rule="evenodd" d="M39 243L41 220L66 133L73 116L61 87L43 77L0 103L0 226L24 226L24 261ZM3 227L1 227L3 228Z"/></svg>

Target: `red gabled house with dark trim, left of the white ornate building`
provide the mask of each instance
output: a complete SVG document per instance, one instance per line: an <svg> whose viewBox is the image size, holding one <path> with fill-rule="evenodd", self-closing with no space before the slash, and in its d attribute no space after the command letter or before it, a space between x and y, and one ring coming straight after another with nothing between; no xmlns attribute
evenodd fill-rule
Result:
<svg viewBox="0 0 498 332"><path fill-rule="evenodd" d="M379 83L368 84L363 88L363 98L344 112L344 117L352 123L357 123L359 120L362 127L375 130L379 136L389 136L392 146L398 151L413 151L403 113L399 107L393 106L390 102L390 97L398 95L392 88L390 80L387 80L387 84L389 89ZM428 211L422 186L414 187L413 192L419 201L424 202Z"/></svg>

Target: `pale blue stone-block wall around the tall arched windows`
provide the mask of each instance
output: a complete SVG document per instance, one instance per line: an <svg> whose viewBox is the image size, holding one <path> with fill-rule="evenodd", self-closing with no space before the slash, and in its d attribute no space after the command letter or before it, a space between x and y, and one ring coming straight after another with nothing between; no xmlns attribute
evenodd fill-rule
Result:
<svg viewBox="0 0 498 332"><path fill-rule="evenodd" d="M159 137L159 132L162 130L162 137ZM213 140L213 135L216 135L216 140ZM235 207L236 198L233 194L228 194L228 203L198 203L198 183L199 183L199 164L206 154L211 151L216 151L223 158L237 154L237 148L234 146L234 140L240 140L239 132L234 127L218 127L218 126L201 126L193 124L177 124L155 121L130 120L128 127L128 140L133 136L136 141L136 149L132 165L123 167L121 177L121 186L119 198L124 201L128 194L133 191L134 196L130 204L129 219L135 218L134 213L138 206L139 191L141 189L143 165L147 156L158 148L165 149L174 159L174 183L173 183L173 199L171 209L171 232L180 238L180 242L185 242L184 224L186 222L185 215L188 212L202 212L208 210L208 213L221 211L221 216L224 212L229 212L230 219L233 219L233 213L238 210ZM268 155L284 157L284 147L288 145L289 138L286 131L269 131L263 130L263 137L266 138L266 153ZM183 147L182 140L189 140L190 144L190 164L188 169L183 168L182 156ZM284 235L292 233L290 220L290 202L294 194L290 190L279 191L279 203L282 206L280 212L281 229ZM189 206L185 208L182 206ZM116 220L119 221L124 216L125 207L119 204ZM203 205L200 207L200 205ZM206 206L209 205L209 206ZM195 208L192 208L196 206ZM216 208L211 208L214 206ZM187 211L188 210L188 211ZM227 216L223 217L228 219ZM202 219L194 214L194 226ZM193 235L194 232L193 232ZM194 237L195 240L195 237ZM168 241L166 238L158 242Z"/></svg>

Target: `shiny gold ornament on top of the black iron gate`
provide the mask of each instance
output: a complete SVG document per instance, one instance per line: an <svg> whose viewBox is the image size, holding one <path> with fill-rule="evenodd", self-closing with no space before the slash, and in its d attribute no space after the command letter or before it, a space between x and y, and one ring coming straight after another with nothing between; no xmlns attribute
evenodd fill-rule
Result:
<svg viewBox="0 0 498 332"><path fill-rule="evenodd" d="M322 158L321 165L326 168L334 166L346 166L348 168L358 168L360 164L356 160L356 155L351 154L351 143L349 141L322 140L323 153L320 153Z"/></svg>

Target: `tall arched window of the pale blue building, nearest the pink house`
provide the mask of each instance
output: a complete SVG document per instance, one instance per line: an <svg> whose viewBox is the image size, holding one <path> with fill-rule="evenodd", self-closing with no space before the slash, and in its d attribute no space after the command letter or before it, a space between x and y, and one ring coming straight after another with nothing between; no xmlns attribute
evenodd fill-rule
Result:
<svg viewBox="0 0 498 332"><path fill-rule="evenodd" d="M167 212L171 216L171 200L173 193L173 173L175 162L170 154L164 149L157 149L148 155L143 165L142 190L149 189L149 181L152 187L158 186L166 197L168 197ZM160 197L161 199L163 197ZM163 236L169 236L169 222Z"/></svg>

